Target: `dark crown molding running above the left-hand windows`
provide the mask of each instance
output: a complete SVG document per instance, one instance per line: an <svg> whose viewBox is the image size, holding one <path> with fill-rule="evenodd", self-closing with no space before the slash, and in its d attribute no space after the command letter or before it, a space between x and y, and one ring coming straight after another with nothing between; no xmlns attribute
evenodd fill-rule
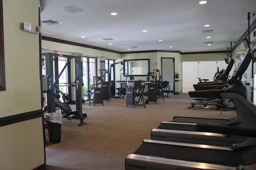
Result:
<svg viewBox="0 0 256 170"><path fill-rule="evenodd" d="M92 45L86 45L86 44L81 44L81 43L75 43L75 42L72 42L72 41L66 41L66 40L62 40L62 39L56 39L56 38L52 38L52 37L42 36L42 40L45 40L45 41L52 41L52 42L62 43L62 44L68 44L68 45L75 45L75 46L78 46L78 47L85 47L85 48L90 48L90 49L96 49L96 50L101 50L101 51L107 51L107 52L111 52L111 53L118 53L118 54L121 54L119 51L114 51L114 50L110 50L110 49L104 49L104 48L95 47L95 46L92 46Z"/></svg>

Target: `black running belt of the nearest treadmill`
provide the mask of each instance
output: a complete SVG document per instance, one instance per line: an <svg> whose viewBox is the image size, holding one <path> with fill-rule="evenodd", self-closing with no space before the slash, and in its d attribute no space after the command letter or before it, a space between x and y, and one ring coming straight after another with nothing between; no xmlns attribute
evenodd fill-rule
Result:
<svg viewBox="0 0 256 170"><path fill-rule="evenodd" d="M232 167L237 167L239 164L245 163L240 152L164 145L158 143L142 143L134 154Z"/></svg>

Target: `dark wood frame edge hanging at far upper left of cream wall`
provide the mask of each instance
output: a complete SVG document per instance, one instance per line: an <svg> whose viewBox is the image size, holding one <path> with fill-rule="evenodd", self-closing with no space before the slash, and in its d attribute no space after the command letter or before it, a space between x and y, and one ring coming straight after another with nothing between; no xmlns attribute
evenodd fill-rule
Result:
<svg viewBox="0 0 256 170"><path fill-rule="evenodd" d="M4 16L3 1L0 0L0 91L6 90L4 63Z"/></svg>

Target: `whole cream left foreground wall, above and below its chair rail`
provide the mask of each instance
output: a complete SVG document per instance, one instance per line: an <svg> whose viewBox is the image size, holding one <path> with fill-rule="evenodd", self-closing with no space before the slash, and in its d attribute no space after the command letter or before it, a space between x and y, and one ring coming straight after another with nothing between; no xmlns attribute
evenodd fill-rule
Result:
<svg viewBox="0 0 256 170"><path fill-rule="evenodd" d="M3 0L6 91L0 117L41 109L39 36L21 23L38 25L38 0ZM29 170L44 164L42 118L0 127L0 169Z"/></svg>

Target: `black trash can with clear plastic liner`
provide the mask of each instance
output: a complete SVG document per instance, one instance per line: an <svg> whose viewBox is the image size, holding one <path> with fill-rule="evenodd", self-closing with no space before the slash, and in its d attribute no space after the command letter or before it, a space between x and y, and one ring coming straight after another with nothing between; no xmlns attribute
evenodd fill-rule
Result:
<svg viewBox="0 0 256 170"><path fill-rule="evenodd" d="M60 143L62 115L57 113L47 113L48 134L51 143Z"/></svg>

